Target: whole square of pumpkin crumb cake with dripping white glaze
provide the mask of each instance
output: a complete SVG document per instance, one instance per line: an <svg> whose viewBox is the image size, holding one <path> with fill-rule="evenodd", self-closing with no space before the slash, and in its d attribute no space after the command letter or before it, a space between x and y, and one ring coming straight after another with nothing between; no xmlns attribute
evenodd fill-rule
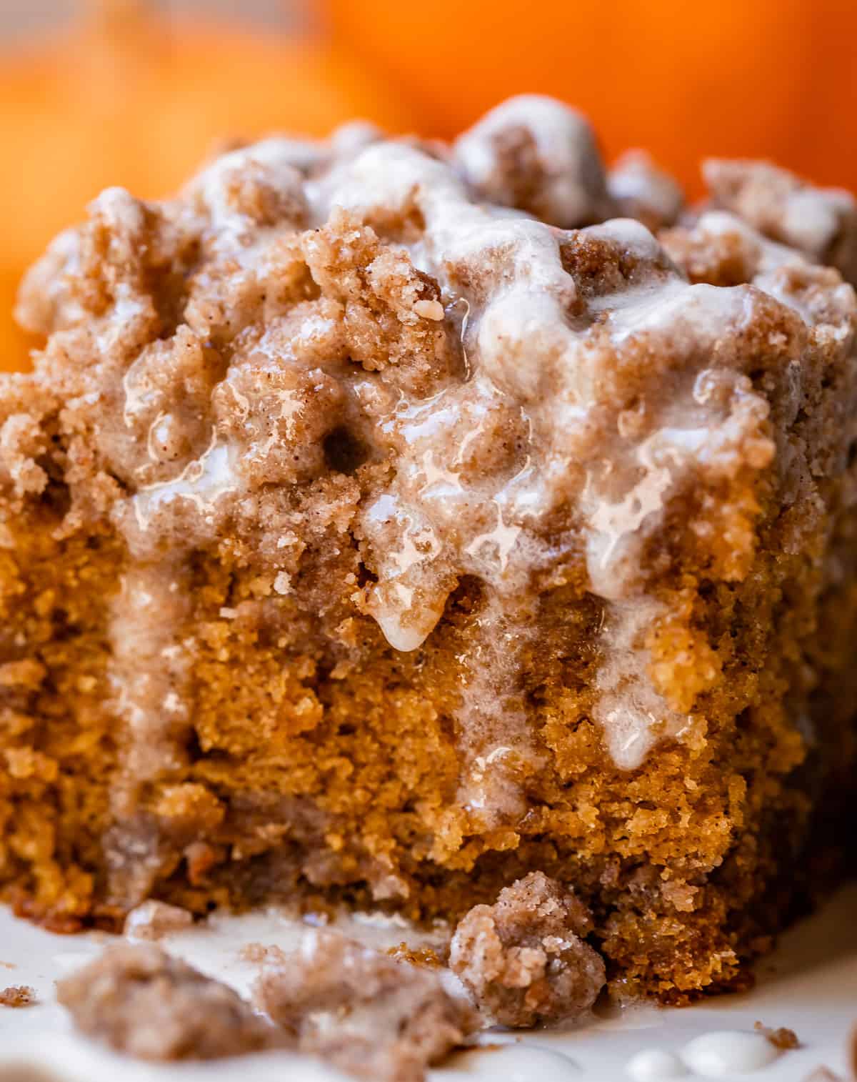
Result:
<svg viewBox="0 0 857 1082"><path fill-rule="evenodd" d="M708 176L682 211L526 97L56 239L0 390L18 912L457 919L541 871L615 991L744 979L854 778L857 214Z"/></svg>

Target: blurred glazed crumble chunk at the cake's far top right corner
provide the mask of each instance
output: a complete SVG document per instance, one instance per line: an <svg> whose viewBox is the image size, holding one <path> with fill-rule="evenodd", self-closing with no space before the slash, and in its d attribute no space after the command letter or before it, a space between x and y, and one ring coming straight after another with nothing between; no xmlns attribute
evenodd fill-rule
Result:
<svg viewBox="0 0 857 1082"><path fill-rule="evenodd" d="M709 159L702 173L715 207L857 281L857 200L841 188L816 188L764 161Z"/></svg>

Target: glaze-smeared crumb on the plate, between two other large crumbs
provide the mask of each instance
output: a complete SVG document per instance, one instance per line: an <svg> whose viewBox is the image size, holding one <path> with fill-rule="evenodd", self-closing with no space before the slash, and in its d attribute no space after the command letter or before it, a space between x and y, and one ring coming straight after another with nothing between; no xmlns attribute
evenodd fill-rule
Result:
<svg viewBox="0 0 857 1082"><path fill-rule="evenodd" d="M263 968L255 997L300 1052L372 1082L421 1082L427 1065L478 1027L437 973L322 928Z"/></svg>

